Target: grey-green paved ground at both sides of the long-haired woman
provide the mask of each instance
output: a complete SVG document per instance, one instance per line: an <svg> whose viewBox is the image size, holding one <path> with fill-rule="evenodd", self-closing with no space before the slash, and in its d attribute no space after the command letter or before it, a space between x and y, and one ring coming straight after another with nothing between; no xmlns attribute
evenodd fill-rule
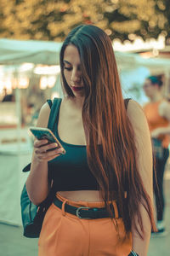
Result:
<svg viewBox="0 0 170 256"><path fill-rule="evenodd" d="M165 193L167 236L150 239L148 256L170 256L170 171L166 171ZM0 256L37 256L37 239L22 236L20 227L0 224Z"/></svg>

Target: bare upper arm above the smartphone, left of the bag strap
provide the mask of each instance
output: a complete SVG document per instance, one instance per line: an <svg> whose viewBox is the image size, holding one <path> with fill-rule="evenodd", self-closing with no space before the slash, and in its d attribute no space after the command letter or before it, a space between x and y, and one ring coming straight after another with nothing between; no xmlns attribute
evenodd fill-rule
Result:
<svg viewBox="0 0 170 256"><path fill-rule="evenodd" d="M48 126L48 118L49 118L50 108L48 102L42 105L40 109L40 113L37 119L37 126L39 127L47 127Z"/></svg>

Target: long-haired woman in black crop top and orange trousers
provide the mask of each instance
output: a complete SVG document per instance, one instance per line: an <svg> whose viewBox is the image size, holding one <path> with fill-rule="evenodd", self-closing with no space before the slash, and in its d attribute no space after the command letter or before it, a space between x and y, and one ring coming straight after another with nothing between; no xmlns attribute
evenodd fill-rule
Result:
<svg viewBox="0 0 170 256"><path fill-rule="evenodd" d="M60 67L65 97L54 133L66 154L36 140L26 182L37 205L48 195L49 173L57 192L38 255L146 256L155 228L150 131L137 102L125 108L111 39L99 27L78 26ZM37 126L47 127L49 113L46 103Z"/></svg>

